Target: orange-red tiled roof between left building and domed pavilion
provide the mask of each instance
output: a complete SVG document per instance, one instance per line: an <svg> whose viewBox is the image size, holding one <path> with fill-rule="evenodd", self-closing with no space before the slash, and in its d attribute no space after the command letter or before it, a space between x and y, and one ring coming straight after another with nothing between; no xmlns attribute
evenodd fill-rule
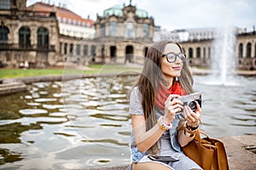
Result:
<svg viewBox="0 0 256 170"><path fill-rule="evenodd" d="M94 21L90 19L83 19L78 14L73 13L73 11L57 7L55 5L49 5L47 3L34 3L31 6L27 7L28 10L34 10L34 11L43 11L43 12L56 12L56 16L60 22L64 22L67 24L73 24L73 25L81 25L81 26L88 26L92 27L94 25ZM68 20L70 20L70 23L68 23ZM83 24L84 23L84 24Z"/></svg>

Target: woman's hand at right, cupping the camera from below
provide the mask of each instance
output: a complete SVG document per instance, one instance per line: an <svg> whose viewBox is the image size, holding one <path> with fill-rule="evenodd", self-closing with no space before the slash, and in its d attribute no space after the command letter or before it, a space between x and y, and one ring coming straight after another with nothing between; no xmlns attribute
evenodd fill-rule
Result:
<svg viewBox="0 0 256 170"><path fill-rule="evenodd" d="M183 113L184 113L185 119L186 119L189 127L193 127L193 126L197 125L200 120L200 116L201 116L201 107L197 101L195 101L195 102L196 102L195 112L192 111L188 105L184 106L184 109L183 109Z"/></svg>

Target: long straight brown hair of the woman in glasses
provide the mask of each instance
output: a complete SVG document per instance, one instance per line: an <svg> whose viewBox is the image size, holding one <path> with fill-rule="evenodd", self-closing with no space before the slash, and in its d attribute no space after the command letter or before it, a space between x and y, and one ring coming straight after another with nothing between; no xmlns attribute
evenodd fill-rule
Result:
<svg viewBox="0 0 256 170"><path fill-rule="evenodd" d="M168 84L168 82L166 82L165 76L160 70L160 61L162 59L162 54L167 43L176 43L178 48L180 48L181 52L183 52L182 47L177 42L155 42L150 48L148 48L148 54L144 61L143 71L136 85L139 88L140 93L142 94L142 105L144 111L144 118L146 120L147 131L152 128L156 123L156 117L154 112L154 99L158 85L160 82L163 82L165 85ZM187 61L183 63L181 76L178 78L182 88L185 89L186 93L193 93L193 78L189 71ZM150 150L153 154L155 153L155 151L159 151L157 143L155 143Z"/></svg>

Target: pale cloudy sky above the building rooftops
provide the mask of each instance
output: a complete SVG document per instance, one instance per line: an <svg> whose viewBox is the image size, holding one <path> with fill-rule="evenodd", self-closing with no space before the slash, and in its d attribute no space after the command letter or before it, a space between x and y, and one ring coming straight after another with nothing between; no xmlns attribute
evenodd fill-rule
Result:
<svg viewBox="0 0 256 170"><path fill-rule="evenodd" d="M67 8L83 18L96 14L116 4L128 5L130 0L27 0L27 5L44 2L56 6L65 3ZM131 0L131 5L148 11L154 24L162 29L212 28L237 26L253 31L256 26L255 0Z"/></svg>

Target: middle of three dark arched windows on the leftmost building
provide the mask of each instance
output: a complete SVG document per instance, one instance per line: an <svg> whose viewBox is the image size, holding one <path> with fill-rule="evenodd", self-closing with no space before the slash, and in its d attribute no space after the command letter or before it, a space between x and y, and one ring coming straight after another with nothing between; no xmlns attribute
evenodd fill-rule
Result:
<svg viewBox="0 0 256 170"><path fill-rule="evenodd" d="M19 44L20 48L30 47L30 29L22 26L19 30Z"/></svg>

